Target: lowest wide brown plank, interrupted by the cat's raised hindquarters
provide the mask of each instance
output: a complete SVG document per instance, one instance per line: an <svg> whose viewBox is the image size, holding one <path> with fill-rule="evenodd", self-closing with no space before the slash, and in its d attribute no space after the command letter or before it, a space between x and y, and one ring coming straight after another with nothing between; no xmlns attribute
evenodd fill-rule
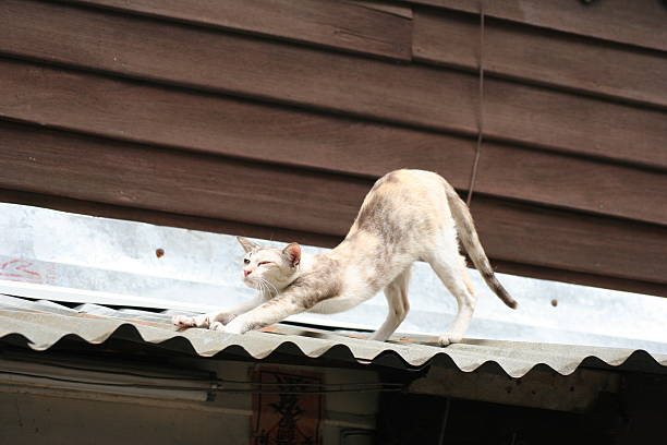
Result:
<svg viewBox="0 0 667 445"><path fill-rule="evenodd" d="M372 185L324 172L2 123L0 188L343 236ZM473 200L490 257L667 282L667 228L484 196Z"/></svg>

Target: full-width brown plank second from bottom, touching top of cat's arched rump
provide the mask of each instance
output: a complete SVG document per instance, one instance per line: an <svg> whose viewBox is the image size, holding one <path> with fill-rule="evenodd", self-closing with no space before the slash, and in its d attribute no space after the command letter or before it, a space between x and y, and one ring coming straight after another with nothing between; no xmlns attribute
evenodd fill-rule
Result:
<svg viewBox="0 0 667 445"><path fill-rule="evenodd" d="M463 137L16 62L3 74L11 76L0 82L0 115L16 120L364 177L411 167L436 170L459 189L470 181L474 143ZM665 181L631 167L485 143L475 191L667 224Z"/></svg>

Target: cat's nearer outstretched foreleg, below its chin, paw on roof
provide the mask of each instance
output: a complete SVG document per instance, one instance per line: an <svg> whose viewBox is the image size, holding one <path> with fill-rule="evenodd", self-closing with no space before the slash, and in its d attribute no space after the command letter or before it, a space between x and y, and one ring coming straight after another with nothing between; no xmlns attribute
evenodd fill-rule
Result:
<svg viewBox="0 0 667 445"><path fill-rule="evenodd" d="M301 290L288 289L252 311L237 316L227 325L213 323L210 328L230 334L260 329L311 309L314 304L305 304L304 302L308 300L305 297Z"/></svg>

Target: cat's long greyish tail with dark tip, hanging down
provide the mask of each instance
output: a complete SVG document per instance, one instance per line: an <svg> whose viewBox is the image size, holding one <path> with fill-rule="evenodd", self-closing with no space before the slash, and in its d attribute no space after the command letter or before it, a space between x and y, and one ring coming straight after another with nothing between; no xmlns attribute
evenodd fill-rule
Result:
<svg viewBox="0 0 667 445"><path fill-rule="evenodd" d="M494 293L496 293L505 304L512 309L517 309L519 304L508 291L505 290L494 274L494 269L477 237L477 231L475 230L475 225L473 224L468 205L459 197L459 194L449 183L446 183L445 191L447 193L449 208L451 209L451 214L457 225L459 238L465 248L465 252L468 252L468 256L470 256L477 270L480 270L480 274L482 274L484 281L486 281L486 285Z"/></svg>

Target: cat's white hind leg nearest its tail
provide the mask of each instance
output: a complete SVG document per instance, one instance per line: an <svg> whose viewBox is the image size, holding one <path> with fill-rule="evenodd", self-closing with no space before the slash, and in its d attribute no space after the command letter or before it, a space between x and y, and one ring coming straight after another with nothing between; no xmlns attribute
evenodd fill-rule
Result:
<svg viewBox="0 0 667 445"><path fill-rule="evenodd" d="M458 252L456 244L452 248L434 252L433 257L428 261L440 281L454 296L458 304L453 322L448 330L438 338L442 346L460 342L463 339L477 303L465 268L465 260Z"/></svg>

